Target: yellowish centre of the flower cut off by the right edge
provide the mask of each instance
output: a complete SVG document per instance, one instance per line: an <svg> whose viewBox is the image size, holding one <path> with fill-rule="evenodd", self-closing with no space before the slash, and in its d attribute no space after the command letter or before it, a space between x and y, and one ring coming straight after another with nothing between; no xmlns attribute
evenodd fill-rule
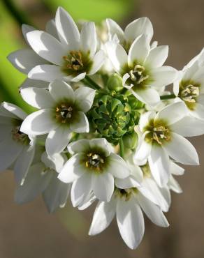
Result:
<svg viewBox="0 0 204 258"><path fill-rule="evenodd" d="M199 96L199 87L189 84L180 91L180 97L182 100L188 103L196 103L196 98Z"/></svg>

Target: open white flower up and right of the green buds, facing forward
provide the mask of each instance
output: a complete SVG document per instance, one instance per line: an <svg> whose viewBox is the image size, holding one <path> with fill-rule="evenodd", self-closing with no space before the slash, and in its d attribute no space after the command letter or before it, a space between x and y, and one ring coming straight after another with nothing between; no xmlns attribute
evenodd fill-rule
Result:
<svg viewBox="0 0 204 258"><path fill-rule="evenodd" d="M163 66L168 56L168 46L151 49L146 35L138 36L134 40L128 54L122 45L117 43L108 42L106 48L115 71L123 77L123 85L144 103L159 103L159 93L156 89L172 83L177 78L177 70Z"/></svg>

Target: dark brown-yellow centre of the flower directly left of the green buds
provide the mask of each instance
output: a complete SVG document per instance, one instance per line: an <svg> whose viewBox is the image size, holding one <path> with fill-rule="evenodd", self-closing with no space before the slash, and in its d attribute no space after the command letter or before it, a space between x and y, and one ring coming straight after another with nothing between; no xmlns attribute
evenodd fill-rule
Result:
<svg viewBox="0 0 204 258"><path fill-rule="evenodd" d="M68 122L73 116L73 107L67 104L61 104L56 107L56 119L60 123Z"/></svg>

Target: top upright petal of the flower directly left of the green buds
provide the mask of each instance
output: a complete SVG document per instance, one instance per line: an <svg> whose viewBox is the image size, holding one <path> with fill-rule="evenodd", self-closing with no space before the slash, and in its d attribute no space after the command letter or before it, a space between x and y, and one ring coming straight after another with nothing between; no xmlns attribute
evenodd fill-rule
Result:
<svg viewBox="0 0 204 258"><path fill-rule="evenodd" d="M51 82L49 85L49 91L56 102L68 99L73 103L75 100L73 89L66 82L61 82L59 80Z"/></svg>

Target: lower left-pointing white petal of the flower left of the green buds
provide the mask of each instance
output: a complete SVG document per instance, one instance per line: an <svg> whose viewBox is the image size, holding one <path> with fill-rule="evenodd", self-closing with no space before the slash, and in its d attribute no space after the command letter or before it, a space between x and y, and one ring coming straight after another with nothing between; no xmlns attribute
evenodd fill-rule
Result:
<svg viewBox="0 0 204 258"><path fill-rule="evenodd" d="M41 109L27 116L20 130L27 135L44 135L55 128L57 123L53 119L53 110Z"/></svg>

